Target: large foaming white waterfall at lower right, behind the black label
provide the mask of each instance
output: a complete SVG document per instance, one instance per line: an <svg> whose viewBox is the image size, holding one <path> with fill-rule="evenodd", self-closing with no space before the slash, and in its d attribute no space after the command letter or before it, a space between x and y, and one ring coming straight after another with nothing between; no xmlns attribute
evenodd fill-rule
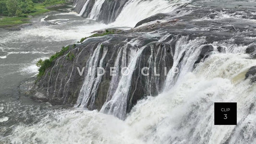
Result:
<svg viewBox="0 0 256 144"><path fill-rule="evenodd" d="M247 58L212 54L169 91L140 101L125 122L148 144L254 143L248 135L255 132L256 84L249 84L241 73L256 60ZM219 101L237 102L237 126L214 126L213 103Z"/></svg>

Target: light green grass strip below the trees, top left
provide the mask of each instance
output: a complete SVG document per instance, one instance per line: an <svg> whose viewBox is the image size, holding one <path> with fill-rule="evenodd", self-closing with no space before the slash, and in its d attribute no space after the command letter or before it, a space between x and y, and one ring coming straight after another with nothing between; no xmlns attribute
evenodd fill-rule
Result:
<svg viewBox="0 0 256 144"><path fill-rule="evenodd" d="M46 9L47 7L55 4L61 4L61 3L65 3L65 0L57 1L51 4L35 3L35 6L34 6L35 12L28 13L27 15L35 16L45 12L49 12L50 10ZM5 26L18 25L18 24L26 24L26 23L30 23L29 19L30 18L17 17L17 16L3 17L2 19L0 19L0 26L5 27Z"/></svg>

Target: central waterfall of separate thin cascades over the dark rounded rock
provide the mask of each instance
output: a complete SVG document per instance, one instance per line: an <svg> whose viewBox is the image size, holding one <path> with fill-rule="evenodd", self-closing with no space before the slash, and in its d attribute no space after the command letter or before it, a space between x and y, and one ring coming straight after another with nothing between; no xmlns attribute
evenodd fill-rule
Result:
<svg viewBox="0 0 256 144"><path fill-rule="evenodd" d="M147 35L147 38L150 35ZM155 36L155 35L152 35ZM165 41L168 38L167 36L163 36L160 38ZM175 83L179 77L184 77L187 72L191 72L193 70L193 65L195 61L198 59L198 56L201 52L203 43L205 42L205 37L198 37L192 40L189 40L189 36L174 36L170 41L166 42L165 45L170 45L171 43L176 43L175 47L172 48L174 53L173 57L173 66L178 67L181 72L177 75L173 73L172 69L169 71L166 82L164 84L164 88L159 87L159 76L153 75L155 71L163 74L164 69L159 66L159 60L165 61L167 54L167 48L161 45L155 51L155 44L149 43L147 45L142 45L140 48L134 47L140 45L140 40L134 38L129 42L123 41L125 44L123 46L119 46L117 51L117 57L115 58L114 67L116 68L116 73L111 77L111 81L108 87L108 91L106 94L106 99L104 105L101 107L100 111L103 113L114 115L122 120L126 118L126 112L128 105L131 105L131 102L128 103L131 99L130 96L133 96L131 91L132 86L132 78L135 70L141 71L142 67L140 67L138 61L141 61L141 54L145 48L147 48L150 55L146 58L146 65L149 67L149 76L145 78L145 91L148 95L152 95L152 93L160 93L162 90L169 90ZM129 47L129 49L127 49ZM105 47L104 47L105 48ZM90 56L85 70L87 70L87 74L85 76L83 86L80 90L80 94L78 100L76 102L76 106L81 108L89 108L94 109L95 97L98 93L98 85L101 83L102 76L97 75L97 67L103 67L102 60L104 60L107 50L103 53L101 45L94 50L92 55ZM171 50L171 51L173 51ZM128 52L129 51L129 52ZM145 59L145 58L143 58ZM170 59L167 58L167 59ZM166 63L166 61L164 62ZM163 63L163 64L164 64ZM129 74L125 75L122 73L122 68L128 67ZM164 65L161 65L164 66ZM91 68L91 69L89 69ZM108 70L107 70L108 71ZM91 73L92 72L92 73ZM139 77L139 75L136 75ZM136 84L136 82L135 82ZM154 90L153 90L154 88Z"/></svg>

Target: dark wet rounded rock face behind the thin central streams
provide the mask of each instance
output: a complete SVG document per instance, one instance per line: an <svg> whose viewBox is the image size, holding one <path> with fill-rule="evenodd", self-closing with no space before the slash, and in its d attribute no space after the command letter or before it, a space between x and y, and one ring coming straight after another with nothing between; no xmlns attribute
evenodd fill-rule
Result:
<svg viewBox="0 0 256 144"><path fill-rule="evenodd" d="M115 67L116 63L123 65L118 59L118 54L121 52L122 59L126 59L126 64L123 67L128 67L129 61L135 57L134 51L142 47L146 48L144 48L141 56L136 61L136 68L132 74L131 87L127 99L127 111L130 111L134 104L142 97L156 96L161 92L166 79L165 69L166 72L169 72L172 67L173 58L171 51L174 50L171 49L171 45L168 43L157 42L158 38L139 36L127 37L124 34L92 38L87 39L81 45L71 48L69 53L74 54L75 58L68 60L66 54L55 60L52 66L45 72L45 75L34 86L35 94L32 98L38 101L49 101L53 105L76 104L81 87L85 81L85 76L88 73L86 64L92 59L92 53L99 47L99 61L95 66L100 67L100 58L103 57L104 51L107 49L104 59L101 61L106 72L100 78L99 84L95 84L97 85L96 90L88 90L90 95L95 95L95 98L88 99L89 102L88 106L85 106L86 108L100 110L103 104L110 100L113 95L111 91L114 91L118 85L110 90L110 83L113 79L113 76L110 75L110 68ZM134 40L137 40L137 42L133 42ZM122 48L126 48L126 50L120 51ZM80 76L77 68L82 71L83 67L85 67L85 71ZM149 68L145 72L149 74L148 76L142 75L141 69L143 67ZM155 73L159 76L154 75L153 67L156 67Z"/></svg>

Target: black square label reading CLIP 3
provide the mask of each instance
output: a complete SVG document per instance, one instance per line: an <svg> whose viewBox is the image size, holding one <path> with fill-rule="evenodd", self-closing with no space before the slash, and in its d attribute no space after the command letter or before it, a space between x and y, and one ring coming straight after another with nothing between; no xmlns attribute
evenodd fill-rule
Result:
<svg viewBox="0 0 256 144"><path fill-rule="evenodd" d="M214 125L236 123L236 103L214 103Z"/></svg>

